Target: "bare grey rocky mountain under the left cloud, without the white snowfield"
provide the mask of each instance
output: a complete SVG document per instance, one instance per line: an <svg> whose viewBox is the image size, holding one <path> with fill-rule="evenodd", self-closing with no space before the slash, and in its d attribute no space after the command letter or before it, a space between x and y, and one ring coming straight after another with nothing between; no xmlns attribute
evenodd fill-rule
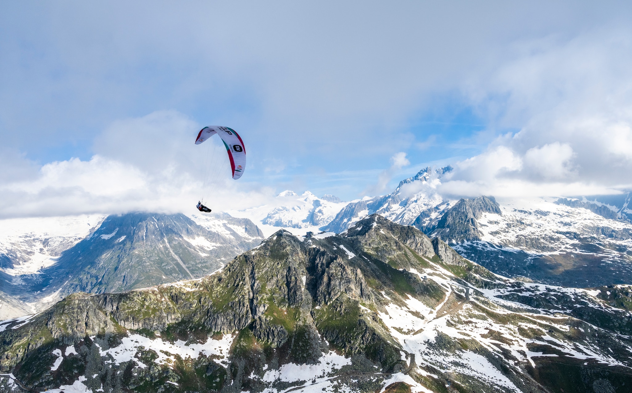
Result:
<svg viewBox="0 0 632 393"><path fill-rule="evenodd" d="M200 278L262 238L252 221L226 213L112 214L37 274L19 279L0 274L0 300L19 295L21 303L13 300L17 306L26 311L35 304L39 311L77 291L125 291Z"/></svg>

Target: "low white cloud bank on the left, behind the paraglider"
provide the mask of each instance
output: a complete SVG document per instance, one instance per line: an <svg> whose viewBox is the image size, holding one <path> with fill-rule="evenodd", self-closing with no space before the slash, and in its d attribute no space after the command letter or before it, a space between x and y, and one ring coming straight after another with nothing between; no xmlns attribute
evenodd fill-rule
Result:
<svg viewBox="0 0 632 393"><path fill-rule="evenodd" d="M219 138L195 145L196 129L174 111L114 122L96 138L101 153L90 160L54 161L0 182L0 217L176 213L192 211L203 192L214 211L274 198L274 189L231 179Z"/></svg>

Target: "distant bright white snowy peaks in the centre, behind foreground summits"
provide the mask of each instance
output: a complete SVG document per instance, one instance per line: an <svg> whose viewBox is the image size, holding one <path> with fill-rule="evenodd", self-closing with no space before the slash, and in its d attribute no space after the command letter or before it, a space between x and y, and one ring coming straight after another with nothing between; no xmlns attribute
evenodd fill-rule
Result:
<svg viewBox="0 0 632 393"><path fill-rule="evenodd" d="M320 228L334 220L347 204L349 202L330 194L317 197L309 191L298 195L286 190L279 193L271 204L229 213L252 220L269 236L280 228L296 233L320 232Z"/></svg>

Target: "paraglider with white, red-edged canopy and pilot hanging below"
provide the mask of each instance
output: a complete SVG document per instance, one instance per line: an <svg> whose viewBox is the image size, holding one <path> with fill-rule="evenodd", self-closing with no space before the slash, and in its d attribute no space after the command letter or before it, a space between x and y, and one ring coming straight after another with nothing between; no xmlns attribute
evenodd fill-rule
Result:
<svg viewBox="0 0 632 393"><path fill-rule="evenodd" d="M198 132L197 138L195 138L195 144L201 144L207 139L210 139L215 134L219 136L222 143L224 144L224 147L226 148L226 153L228 153L228 160L230 163L230 169L233 179L239 179L246 169L246 147L243 144L241 136L239 136L239 134L234 131L234 129L222 126L204 127L200 130L200 132ZM221 173L228 170L228 163L224 163L224 165L222 165L221 161L223 160L221 157L219 157L221 152L211 152L211 150L212 149L209 146L206 155L206 157L209 158L209 162L205 163L203 166L204 179L202 182L202 197L200 198L200 201L198 201L198 204L196 206L199 211L202 211L204 213L210 213L210 209L204 206L204 197L207 187L210 186L213 189L216 189L217 184L212 183L222 181L223 179L221 177ZM225 158L226 156L224 156L224 159ZM212 179L209 179L209 175Z"/></svg>

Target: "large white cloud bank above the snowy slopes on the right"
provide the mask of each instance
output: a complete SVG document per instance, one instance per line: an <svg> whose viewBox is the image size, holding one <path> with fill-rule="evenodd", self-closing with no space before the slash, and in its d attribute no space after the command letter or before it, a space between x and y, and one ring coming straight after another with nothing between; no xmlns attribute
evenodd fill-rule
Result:
<svg viewBox="0 0 632 393"><path fill-rule="evenodd" d="M456 163L455 195L557 196L632 188L632 29L595 28L513 47L470 85L495 127L518 127Z"/></svg>

